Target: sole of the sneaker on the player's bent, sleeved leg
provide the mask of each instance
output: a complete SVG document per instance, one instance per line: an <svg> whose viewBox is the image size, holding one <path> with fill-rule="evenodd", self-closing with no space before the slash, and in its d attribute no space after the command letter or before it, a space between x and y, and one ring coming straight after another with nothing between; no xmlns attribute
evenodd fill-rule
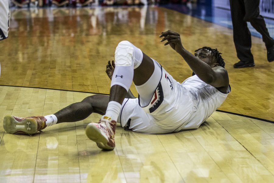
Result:
<svg viewBox="0 0 274 183"><path fill-rule="evenodd" d="M107 145L108 140L104 137L104 135L101 134L101 131L93 125L86 126L86 136L90 140L96 142L97 146L100 149L105 149L105 150L113 150L114 149L114 147Z"/></svg>

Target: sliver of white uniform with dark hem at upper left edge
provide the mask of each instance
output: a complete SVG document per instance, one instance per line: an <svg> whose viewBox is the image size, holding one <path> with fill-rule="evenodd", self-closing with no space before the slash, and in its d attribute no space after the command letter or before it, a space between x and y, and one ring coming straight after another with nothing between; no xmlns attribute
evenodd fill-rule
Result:
<svg viewBox="0 0 274 183"><path fill-rule="evenodd" d="M9 33L9 0L0 0L0 41ZM0 65L1 75L1 65Z"/></svg>

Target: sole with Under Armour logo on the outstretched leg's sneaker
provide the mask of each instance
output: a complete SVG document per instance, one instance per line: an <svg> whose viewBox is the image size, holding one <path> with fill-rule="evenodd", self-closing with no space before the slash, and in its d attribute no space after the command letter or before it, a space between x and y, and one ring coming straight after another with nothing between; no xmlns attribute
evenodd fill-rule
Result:
<svg viewBox="0 0 274 183"><path fill-rule="evenodd" d="M4 117L3 127L7 133L26 133L35 134L37 132L37 122L33 118L26 118L23 121L17 121L13 116Z"/></svg>

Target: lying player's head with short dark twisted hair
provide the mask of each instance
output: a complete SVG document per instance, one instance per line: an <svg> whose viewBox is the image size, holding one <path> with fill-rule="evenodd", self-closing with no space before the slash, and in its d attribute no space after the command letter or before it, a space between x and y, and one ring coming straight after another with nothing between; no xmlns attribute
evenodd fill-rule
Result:
<svg viewBox="0 0 274 183"><path fill-rule="evenodd" d="M203 62L207 63L211 67L221 66L224 68L225 63L217 48L212 49L210 47L202 47L195 50L194 55L198 57L198 59L202 60Z"/></svg>

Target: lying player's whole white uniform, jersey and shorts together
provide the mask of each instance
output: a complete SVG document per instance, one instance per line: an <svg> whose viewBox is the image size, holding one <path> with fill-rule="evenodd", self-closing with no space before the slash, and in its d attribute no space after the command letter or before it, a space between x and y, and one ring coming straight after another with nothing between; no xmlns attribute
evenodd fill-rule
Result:
<svg viewBox="0 0 274 183"><path fill-rule="evenodd" d="M148 134L196 129L230 92L230 86L227 93L222 93L196 75L180 84L162 67L161 70L161 80L148 105L144 106L138 98L124 100L117 121L122 127Z"/></svg>

